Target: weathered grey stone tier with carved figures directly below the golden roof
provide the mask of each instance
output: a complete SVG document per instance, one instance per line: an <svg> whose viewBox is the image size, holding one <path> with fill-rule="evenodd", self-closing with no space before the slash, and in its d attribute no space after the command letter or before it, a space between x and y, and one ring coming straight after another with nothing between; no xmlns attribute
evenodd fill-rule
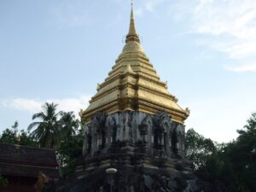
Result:
<svg viewBox="0 0 256 192"><path fill-rule="evenodd" d="M164 112L96 113L84 131L85 158L121 153L183 159L184 150L184 125Z"/></svg>

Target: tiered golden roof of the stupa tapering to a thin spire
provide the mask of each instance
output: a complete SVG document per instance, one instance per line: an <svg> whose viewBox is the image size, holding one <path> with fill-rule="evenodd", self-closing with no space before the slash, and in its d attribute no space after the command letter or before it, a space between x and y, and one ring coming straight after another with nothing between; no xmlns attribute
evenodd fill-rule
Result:
<svg viewBox="0 0 256 192"><path fill-rule="evenodd" d="M144 54L132 9L125 43L112 71L108 73L108 78L98 84L97 93L91 98L89 107L81 111L81 118L89 122L97 112L165 111L174 121L183 123L189 116L189 111L177 105L177 98L168 92L166 83L160 81L153 65Z"/></svg>

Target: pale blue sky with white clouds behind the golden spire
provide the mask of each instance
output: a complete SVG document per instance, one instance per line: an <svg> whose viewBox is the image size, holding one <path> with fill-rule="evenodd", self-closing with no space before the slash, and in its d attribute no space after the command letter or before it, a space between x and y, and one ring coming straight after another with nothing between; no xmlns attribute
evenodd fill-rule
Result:
<svg viewBox="0 0 256 192"><path fill-rule="evenodd" d="M0 132L45 102L85 109L118 58L129 0L0 1ZM219 143L256 112L255 0L134 0L160 79L190 109L186 129Z"/></svg>

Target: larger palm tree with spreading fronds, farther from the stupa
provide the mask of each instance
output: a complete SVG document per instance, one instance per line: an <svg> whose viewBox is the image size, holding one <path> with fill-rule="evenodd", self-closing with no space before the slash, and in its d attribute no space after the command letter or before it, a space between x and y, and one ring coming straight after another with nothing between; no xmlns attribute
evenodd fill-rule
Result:
<svg viewBox="0 0 256 192"><path fill-rule="evenodd" d="M31 136L44 148L54 148L60 141L58 116L61 112L56 112L57 106L53 102L46 102L43 106L44 110L32 116L32 120L41 119L41 121L32 122L27 128L28 131L33 130Z"/></svg>

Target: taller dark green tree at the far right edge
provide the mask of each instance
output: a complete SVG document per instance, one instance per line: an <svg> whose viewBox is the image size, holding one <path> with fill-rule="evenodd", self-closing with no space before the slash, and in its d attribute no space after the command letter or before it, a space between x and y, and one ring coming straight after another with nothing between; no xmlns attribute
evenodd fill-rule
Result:
<svg viewBox="0 0 256 192"><path fill-rule="evenodd" d="M237 131L239 136L236 141L228 143L222 158L225 165L230 163L232 173L236 178L232 183L236 183L239 192L256 191L256 113L247 120L247 125L242 130ZM223 177L226 177L225 175Z"/></svg>

